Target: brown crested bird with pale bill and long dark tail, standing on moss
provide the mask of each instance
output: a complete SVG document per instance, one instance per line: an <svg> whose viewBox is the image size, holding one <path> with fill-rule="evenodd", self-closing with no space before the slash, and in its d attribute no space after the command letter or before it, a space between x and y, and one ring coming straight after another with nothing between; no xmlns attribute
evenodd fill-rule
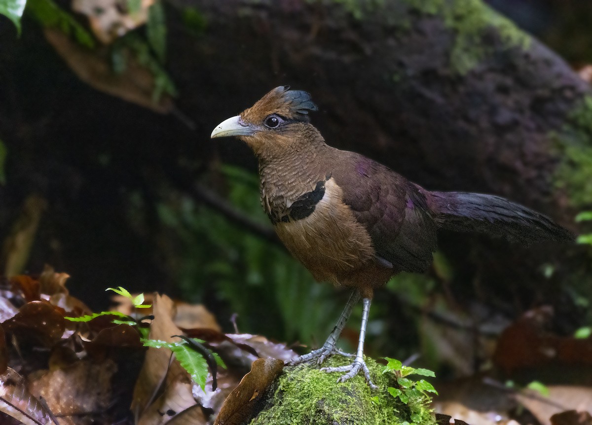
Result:
<svg viewBox="0 0 592 425"><path fill-rule="evenodd" d="M346 355L335 344L353 306L363 300L355 359L345 381L363 371L363 344L372 293L401 271L423 272L432 263L436 231L482 231L518 242L572 240L549 217L494 195L430 192L360 154L328 146L310 124L317 106L303 91L279 86L211 137L237 136L259 159L261 203L289 252L318 281L353 288L323 346L292 363ZM349 355L352 356L352 355Z"/></svg>

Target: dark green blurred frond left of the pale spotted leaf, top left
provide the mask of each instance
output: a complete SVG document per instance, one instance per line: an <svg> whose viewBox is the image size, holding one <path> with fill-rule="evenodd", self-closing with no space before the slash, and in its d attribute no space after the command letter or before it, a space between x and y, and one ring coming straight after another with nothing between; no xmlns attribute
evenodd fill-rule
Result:
<svg viewBox="0 0 592 425"><path fill-rule="evenodd" d="M95 39L68 12L52 0L28 0L27 11L44 27L56 27L63 33L73 35L82 46L92 49Z"/></svg>

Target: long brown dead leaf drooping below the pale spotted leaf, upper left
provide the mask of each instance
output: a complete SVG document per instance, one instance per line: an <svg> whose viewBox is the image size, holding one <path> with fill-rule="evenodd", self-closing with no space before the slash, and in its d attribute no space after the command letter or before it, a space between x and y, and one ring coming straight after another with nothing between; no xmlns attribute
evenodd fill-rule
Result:
<svg viewBox="0 0 592 425"><path fill-rule="evenodd" d="M170 97L162 96L158 103L153 101L154 76L131 55L127 58L126 70L115 73L108 60L108 49L88 50L70 40L58 28L46 27L43 31L47 41L83 82L98 91L160 114L170 112Z"/></svg>

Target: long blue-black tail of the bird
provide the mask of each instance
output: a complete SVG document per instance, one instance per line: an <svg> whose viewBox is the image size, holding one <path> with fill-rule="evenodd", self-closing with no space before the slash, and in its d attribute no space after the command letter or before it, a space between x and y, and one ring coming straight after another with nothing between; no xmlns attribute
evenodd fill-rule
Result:
<svg viewBox="0 0 592 425"><path fill-rule="evenodd" d="M574 235L546 215L495 195L430 192L430 207L440 228L479 231L522 243L572 241Z"/></svg>

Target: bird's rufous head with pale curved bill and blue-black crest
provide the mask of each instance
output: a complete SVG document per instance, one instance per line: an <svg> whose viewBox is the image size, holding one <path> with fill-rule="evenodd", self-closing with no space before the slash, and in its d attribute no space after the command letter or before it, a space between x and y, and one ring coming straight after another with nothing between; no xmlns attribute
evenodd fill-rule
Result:
<svg viewBox="0 0 592 425"><path fill-rule="evenodd" d="M278 150L310 136L316 129L309 124L308 111L317 111L310 94L279 86L255 105L216 125L211 138L237 136L255 151Z"/></svg>

